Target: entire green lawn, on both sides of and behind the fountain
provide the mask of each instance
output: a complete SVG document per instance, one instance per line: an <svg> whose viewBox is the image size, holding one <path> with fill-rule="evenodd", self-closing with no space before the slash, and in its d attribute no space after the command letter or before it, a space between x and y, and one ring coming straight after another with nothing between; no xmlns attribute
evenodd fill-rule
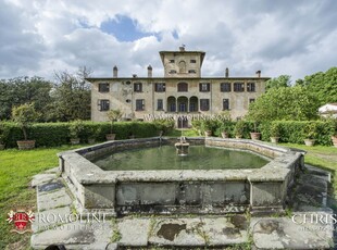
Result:
<svg viewBox="0 0 337 250"><path fill-rule="evenodd" d="M180 135L180 130L174 130L170 134L170 136ZM195 130L191 129L184 130L183 135L197 136ZM322 146L305 147L289 143L283 146L308 151L305 155L305 163L308 164L330 170L332 172L337 170L337 148ZM57 166L57 153L70 149L74 149L74 147L63 146L32 151L18 151L15 149L0 151L0 249L29 249L30 235L10 233L13 225L9 225L5 222L7 213L17 207L35 209L35 190L29 188L32 177L45 170ZM337 184L336 180L335 184ZM337 185L334 186L336 193Z"/></svg>

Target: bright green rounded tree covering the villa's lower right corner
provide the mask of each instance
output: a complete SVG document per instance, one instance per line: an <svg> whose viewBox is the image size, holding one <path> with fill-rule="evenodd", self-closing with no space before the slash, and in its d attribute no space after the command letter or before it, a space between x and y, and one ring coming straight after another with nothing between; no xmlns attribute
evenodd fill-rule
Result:
<svg viewBox="0 0 337 250"><path fill-rule="evenodd" d="M252 121L317 118L320 103L305 87L271 88L249 107L248 118Z"/></svg>

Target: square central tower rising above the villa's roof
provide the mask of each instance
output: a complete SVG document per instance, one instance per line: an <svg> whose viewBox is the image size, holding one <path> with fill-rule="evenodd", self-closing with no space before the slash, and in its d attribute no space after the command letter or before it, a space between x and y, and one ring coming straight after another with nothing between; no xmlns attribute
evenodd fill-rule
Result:
<svg viewBox="0 0 337 250"><path fill-rule="evenodd" d="M185 46L179 51L160 51L164 66L164 77L201 77L201 65L205 52L186 51Z"/></svg>

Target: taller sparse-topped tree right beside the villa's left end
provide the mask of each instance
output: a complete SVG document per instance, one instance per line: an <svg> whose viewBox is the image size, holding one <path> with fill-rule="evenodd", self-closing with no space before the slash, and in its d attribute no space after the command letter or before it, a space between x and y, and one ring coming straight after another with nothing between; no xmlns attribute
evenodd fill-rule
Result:
<svg viewBox="0 0 337 250"><path fill-rule="evenodd" d="M75 74L66 71L55 73L50 120L67 122L90 118L90 85L85 80L90 73L87 67L80 67Z"/></svg>

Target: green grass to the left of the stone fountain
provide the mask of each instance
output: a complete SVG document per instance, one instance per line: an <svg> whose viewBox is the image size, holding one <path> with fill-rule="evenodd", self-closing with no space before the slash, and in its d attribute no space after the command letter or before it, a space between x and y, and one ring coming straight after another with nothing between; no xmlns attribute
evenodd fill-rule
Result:
<svg viewBox="0 0 337 250"><path fill-rule="evenodd" d="M58 166L57 153L74 148L63 146L30 151L0 151L0 249L29 249L30 234L10 233L13 224L9 225L5 221L8 213L16 208L35 211L36 193L29 187L33 176Z"/></svg>

